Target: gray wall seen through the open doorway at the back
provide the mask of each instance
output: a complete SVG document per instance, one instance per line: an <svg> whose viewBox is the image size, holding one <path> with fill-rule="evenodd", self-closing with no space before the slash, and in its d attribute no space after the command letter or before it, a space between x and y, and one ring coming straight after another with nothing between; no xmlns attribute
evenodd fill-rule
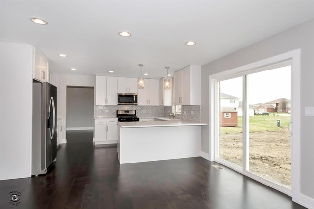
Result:
<svg viewBox="0 0 314 209"><path fill-rule="evenodd" d="M67 87L67 128L94 127L94 88Z"/></svg>

